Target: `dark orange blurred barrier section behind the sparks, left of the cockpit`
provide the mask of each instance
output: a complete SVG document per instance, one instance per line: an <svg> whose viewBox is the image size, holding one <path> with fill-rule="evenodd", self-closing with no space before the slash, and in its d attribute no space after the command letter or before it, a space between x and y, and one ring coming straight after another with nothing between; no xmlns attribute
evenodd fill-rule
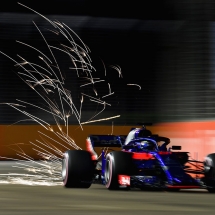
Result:
<svg viewBox="0 0 215 215"><path fill-rule="evenodd" d="M60 129L65 135L68 132L70 142L74 141L80 148L85 149L86 138L90 134L127 134L130 128L131 126L83 126L82 130L80 126L70 125L68 131L65 126L61 126ZM25 154L39 159L39 152L56 154L55 151L74 149L60 136L56 125L51 126L51 130L46 130L40 125L0 125L0 135L1 160L4 160L3 157L22 159Z"/></svg>

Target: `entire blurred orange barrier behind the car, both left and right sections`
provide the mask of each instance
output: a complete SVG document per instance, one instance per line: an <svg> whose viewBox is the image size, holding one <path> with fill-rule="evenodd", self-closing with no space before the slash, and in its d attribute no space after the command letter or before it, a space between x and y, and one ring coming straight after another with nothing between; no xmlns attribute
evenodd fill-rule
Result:
<svg viewBox="0 0 215 215"><path fill-rule="evenodd" d="M68 131L65 126L60 129L82 149L85 149L86 137L90 134L115 134L126 135L131 127L135 126L83 126L70 125ZM203 160L215 152L215 121L207 122L172 122L148 126L153 133L169 137L171 145L181 145L182 151L190 152L193 159ZM69 146L57 133L59 128L52 126L46 130L40 125L0 125L0 156L5 158L24 159L32 157L39 159L40 152L55 153L66 151ZM43 145L46 144L46 145ZM52 149L51 149L52 148Z"/></svg>

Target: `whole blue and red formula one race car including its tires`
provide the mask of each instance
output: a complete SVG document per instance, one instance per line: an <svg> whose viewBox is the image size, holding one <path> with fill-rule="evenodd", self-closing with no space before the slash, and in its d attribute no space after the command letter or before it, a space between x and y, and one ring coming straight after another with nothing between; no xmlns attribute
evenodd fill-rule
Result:
<svg viewBox="0 0 215 215"><path fill-rule="evenodd" d="M89 188L101 183L109 190L203 188L215 192L215 153L204 161L190 160L180 146L167 148L169 143L169 138L152 134L145 125L132 128L127 136L90 135L86 150L64 153L64 186Z"/></svg>

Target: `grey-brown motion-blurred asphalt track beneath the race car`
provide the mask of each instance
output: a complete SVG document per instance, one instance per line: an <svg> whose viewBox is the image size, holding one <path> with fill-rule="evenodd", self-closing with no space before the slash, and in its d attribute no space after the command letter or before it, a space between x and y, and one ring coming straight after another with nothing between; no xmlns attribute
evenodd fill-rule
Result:
<svg viewBox="0 0 215 215"><path fill-rule="evenodd" d="M0 161L0 171L11 172L11 162ZM215 194L205 190L109 191L97 184L89 189L66 189L0 183L0 194L0 215L215 214Z"/></svg>

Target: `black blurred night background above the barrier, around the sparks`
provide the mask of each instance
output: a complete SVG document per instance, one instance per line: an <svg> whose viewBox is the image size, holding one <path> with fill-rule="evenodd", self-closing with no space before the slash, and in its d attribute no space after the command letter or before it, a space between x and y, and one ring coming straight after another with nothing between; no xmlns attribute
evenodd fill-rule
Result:
<svg viewBox="0 0 215 215"><path fill-rule="evenodd" d="M97 75L105 78L115 92L107 99L111 108L107 107L101 118L120 114L121 117L114 120L120 125L214 118L214 1L54 0L20 3L51 20L66 23L90 48ZM48 27L47 22L31 10L16 1L5 1L0 7L0 51L12 58L16 58L16 54L34 58L32 52L16 40L43 50L44 43L32 20L43 30ZM53 35L45 35L53 43L62 42ZM63 55L58 57L65 68L66 87L73 89L74 101L78 104L78 80L66 72L68 59ZM107 66L119 65L123 78L118 78L111 69L104 77L101 59ZM17 68L13 65L11 60L0 55L0 102L22 99L42 105L40 98L16 75ZM141 90L137 86L128 86L128 83L140 85ZM103 85L97 87L99 92L106 93ZM94 104L88 101L85 104L83 121L95 112ZM28 107L27 111L53 122L38 109ZM25 118L7 105L0 106L1 124ZM71 118L69 123L77 122ZM110 125L113 122L100 123Z"/></svg>

